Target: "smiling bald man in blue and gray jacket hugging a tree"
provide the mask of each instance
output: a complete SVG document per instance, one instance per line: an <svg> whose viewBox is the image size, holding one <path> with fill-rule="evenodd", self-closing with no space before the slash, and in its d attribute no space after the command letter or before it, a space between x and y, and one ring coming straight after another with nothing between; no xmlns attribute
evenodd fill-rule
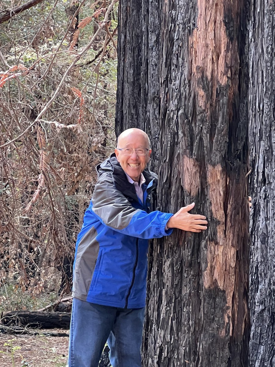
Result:
<svg viewBox="0 0 275 367"><path fill-rule="evenodd" d="M150 212L157 176L147 163L147 134L125 130L115 154L97 167L98 182L77 237L69 367L98 367L106 341L113 367L140 367L148 239L172 228L205 230L203 215ZM108 340L107 340L108 339Z"/></svg>

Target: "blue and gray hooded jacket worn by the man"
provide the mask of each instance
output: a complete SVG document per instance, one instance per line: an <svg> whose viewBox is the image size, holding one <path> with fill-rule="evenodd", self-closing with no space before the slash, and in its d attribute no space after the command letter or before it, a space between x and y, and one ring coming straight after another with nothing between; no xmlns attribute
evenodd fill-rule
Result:
<svg viewBox="0 0 275 367"><path fill-rule="evenodd" d="M146 168L143 204L114 154L96 167L98 182L76 241L73 297L100 305L142 308L148 239L167 236L173 215L150 212L157 176Z"/></svg>

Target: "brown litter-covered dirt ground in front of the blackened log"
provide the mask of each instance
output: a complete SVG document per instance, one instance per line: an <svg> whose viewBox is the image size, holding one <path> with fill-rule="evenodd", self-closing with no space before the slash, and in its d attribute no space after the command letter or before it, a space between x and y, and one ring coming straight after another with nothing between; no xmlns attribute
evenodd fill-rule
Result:
<svg viewBox="0 0 275 367"><path fill-rule="evenodd" d="M69 330L44 330L54 333L67 333ZM14 367L65 367L68 356L68 337L49 337L41 335L0 334L0 367L12 367L11 346L14 350ZM7 343L8 345L4 345ZM20 347L20 349L18 348ZM22 363L25 361L25 364Z"/></svg>

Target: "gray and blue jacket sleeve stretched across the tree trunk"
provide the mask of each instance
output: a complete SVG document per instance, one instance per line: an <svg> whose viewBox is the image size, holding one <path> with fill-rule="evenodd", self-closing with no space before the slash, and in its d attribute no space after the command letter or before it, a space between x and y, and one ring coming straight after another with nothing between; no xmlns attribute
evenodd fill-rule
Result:
<svg viewBox="0 0 275 367"><path fill-rule="evenodd" d="M114 187L111 178L96 183L90 209L104 225L128 236L143 239L168 236L172 229L165 231L171 213L135 209L126 197Z"/></svg>

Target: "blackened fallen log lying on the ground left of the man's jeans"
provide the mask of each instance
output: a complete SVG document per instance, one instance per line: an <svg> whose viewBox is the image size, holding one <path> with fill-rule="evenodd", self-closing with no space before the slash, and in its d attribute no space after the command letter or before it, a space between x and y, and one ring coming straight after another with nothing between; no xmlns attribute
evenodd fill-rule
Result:
<svg viewBox="0 0 275 367"><path fill-rule="evenodd" d="M67 312L8 311L1 315L3 325L39 327L43 329L70 328L71 315Z"/></svg>

